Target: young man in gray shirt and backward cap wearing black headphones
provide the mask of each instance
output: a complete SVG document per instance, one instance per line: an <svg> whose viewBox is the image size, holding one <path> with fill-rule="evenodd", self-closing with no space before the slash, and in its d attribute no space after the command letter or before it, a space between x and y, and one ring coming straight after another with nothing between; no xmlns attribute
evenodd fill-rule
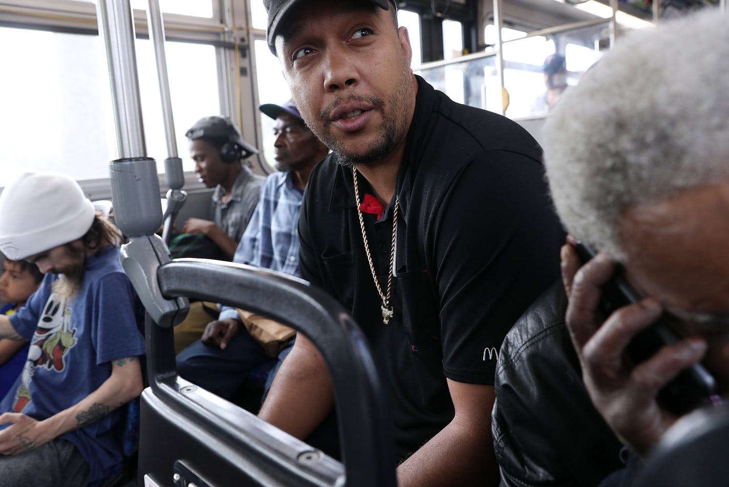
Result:
<svg viewBox="0 0 729 487"><path fill-rule="evenodd" d="M263 178L241 164L258 151L246 143L233 122L206 116L185 133L198 181L215 188L212 219L190 218L182 233L205 234L232 259L258 203Z"/></svg>

